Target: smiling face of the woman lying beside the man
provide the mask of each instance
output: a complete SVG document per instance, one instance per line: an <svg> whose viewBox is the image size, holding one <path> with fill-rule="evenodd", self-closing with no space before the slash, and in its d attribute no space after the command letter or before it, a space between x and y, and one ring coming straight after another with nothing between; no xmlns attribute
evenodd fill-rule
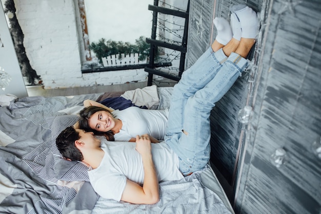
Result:
<svg viewBox="0 0 321 214"><path fill-rule="evenodd" d="M97 111L88 120L89 126L97 131L110 131L115 126L113 116L107 111Z"/></svg>

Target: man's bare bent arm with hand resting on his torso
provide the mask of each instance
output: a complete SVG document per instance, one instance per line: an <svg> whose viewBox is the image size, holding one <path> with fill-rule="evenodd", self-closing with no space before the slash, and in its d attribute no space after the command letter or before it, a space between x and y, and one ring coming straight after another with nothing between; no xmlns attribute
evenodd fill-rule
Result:
<svg viewBox="0 0 321 214"><path fill-rule="evenodd" d="M121 200L133 204L155 204L159 201L159 187L148 135L136 136L136 150L142 155L144 184L141 186L127 179Z"/></svg>

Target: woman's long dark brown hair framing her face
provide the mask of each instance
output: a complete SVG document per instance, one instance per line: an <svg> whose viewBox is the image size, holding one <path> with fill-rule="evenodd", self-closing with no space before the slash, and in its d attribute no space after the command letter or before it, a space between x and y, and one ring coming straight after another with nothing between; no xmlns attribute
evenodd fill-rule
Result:
<svg viewBox="0 0 321 214"><path fill-rule="evenodd" d="M89 118L98 111L107 111L111 113L106 108L97 107L97 106L87 106L79 112L81 116L79 119L80 128L84 129L85 131L92 131L94 132L95 135L103 135L106 137L107 141L115 141L114 133L112 131L103 132L103 131L97 131L95 129L90 128Z"/></svg>

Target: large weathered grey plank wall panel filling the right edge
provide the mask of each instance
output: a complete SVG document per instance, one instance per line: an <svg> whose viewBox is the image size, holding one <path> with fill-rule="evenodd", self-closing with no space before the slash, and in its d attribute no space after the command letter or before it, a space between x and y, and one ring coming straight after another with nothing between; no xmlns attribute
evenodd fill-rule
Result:
<svg viewBox="0 0 321 214"><path fill-rule="evenodd" d="M321 3L267 1L238 213L320 213ZM270 157L287 153L279 168Z"/></svg>

